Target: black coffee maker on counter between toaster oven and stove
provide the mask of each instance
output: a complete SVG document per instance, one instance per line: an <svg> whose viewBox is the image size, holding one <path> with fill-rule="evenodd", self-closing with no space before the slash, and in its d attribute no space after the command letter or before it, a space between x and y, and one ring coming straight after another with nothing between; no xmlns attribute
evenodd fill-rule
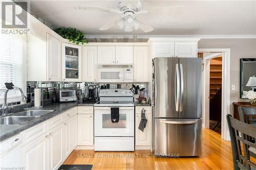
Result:
<svg viewBox="0 0 256 170"><path fill-rule="evenodd" d="M85 97L82 99L83 103L96 103L98 98L98 87L94 84L84 87Z"/></svg>

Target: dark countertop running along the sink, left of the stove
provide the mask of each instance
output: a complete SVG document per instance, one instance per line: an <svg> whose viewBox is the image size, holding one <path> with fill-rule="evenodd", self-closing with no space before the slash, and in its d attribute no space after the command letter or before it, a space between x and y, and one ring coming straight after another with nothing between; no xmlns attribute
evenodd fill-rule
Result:
<svg viewBox="0 0 256 170"><path fill-rule="evenodd" d="M41 122L44 122L62 112L69 110L70 108L77 106L78 102L67 102L67 103L52 103L45 105L40 108L43 110L55 110L49 114L30 120L29 122L22 125L0 125L0 141L6 140L26 129L29 129Z"/></svg>

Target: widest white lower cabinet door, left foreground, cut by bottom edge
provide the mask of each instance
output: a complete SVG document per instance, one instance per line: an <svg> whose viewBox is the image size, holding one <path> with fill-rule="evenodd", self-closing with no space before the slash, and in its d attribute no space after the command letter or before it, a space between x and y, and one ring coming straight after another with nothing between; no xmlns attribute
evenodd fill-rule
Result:
<svg viewBox="0 0 256 170"><path fill-rule="evenodd" d="M48 169L48 134L41 135L22 147L25 169Z"/></svg>

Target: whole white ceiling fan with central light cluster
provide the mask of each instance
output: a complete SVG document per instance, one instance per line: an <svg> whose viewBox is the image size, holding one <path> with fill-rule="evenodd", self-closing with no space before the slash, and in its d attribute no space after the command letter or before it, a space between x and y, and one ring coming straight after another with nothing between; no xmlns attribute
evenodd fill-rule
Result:
<svg viewBox="0 0 256 170"><path fill-rule="evenodd" d="M182 6L173 6L173 7L155 7L155 8L141 8L142 5L140 0L136 7L131 4L123 4L119 2L117 4L117 9L111 8L101 8L101 7L88 7L88 6L75 6L75 9L82 10L99 10L106 12L115 12L120 13L122 16L118 16L105 23L99 30L108 30L114 25L117 25L120 30L124 29L125 32L131 32L133 30L141 29L145 33L151 32L154 30L150 25L144 23L137 15L169 15L172 13L172 8L182 8Z"/></svg>

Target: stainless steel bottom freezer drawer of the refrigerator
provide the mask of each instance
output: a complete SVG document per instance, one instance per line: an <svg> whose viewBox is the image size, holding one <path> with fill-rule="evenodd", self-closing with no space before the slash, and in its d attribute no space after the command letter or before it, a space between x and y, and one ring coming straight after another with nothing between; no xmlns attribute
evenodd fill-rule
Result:
<svg viewBox="0 0 256 170"><path fill-rule="evenodd" d="M155 118L154 154L202 154L202 118L169 119Z"/></svg>

